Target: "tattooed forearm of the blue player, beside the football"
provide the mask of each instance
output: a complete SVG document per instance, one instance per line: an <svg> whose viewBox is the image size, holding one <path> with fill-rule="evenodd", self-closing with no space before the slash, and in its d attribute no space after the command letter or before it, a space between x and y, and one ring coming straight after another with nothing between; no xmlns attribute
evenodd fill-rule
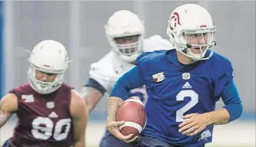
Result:
<svg viewBox="0 0 256 147"><path fill-rule="evenodd" d="M111 96L108 98L108 119L107 121L115 121L118 113L118 108L123 100L118 97Z"/></svg>

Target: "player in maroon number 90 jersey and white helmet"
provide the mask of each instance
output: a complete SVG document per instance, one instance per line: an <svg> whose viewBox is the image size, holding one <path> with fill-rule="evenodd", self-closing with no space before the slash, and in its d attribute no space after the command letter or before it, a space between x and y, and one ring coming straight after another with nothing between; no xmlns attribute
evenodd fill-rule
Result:
<svg viewBox="0 0 256 147"><path fill-rule="evenodd" d="M79 93L63 83L68 54L58 41L42 41L28 58L28 83L10 90L0 103L0 128L16 113L8 147L83 147L88 110Z"/></svg>

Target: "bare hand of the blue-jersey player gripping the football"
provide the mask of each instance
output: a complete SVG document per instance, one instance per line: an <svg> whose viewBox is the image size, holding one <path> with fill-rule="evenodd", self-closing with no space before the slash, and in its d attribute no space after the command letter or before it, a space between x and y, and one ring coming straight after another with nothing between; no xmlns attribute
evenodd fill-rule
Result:
<svg viewBox="0 0 256 147"><path fill-rule="evenodd" d="M119 126L123 125L125 123L125 121L119 121L119 122L115 122L115 121L111 121L107 123L107 128L108 131L111 132L111 134L113 136L115 136L116 138L124 141L124 142L133 142L135 141L135 139L138 138L138 136L133 137L133 134L130 134L128 136L124 136L119 129Z"/></svg>

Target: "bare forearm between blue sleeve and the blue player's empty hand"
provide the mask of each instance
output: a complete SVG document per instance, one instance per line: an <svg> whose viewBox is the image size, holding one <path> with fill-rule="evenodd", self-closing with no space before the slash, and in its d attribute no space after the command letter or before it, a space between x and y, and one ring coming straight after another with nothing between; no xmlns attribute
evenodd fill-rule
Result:
<svg viewBox="0 0 256 147"><path fill-rule="evenodd" d="M230 115L227 109L221 108L210 113L204 113L208 115L208 125L223 125L229 122Z"/></svg>

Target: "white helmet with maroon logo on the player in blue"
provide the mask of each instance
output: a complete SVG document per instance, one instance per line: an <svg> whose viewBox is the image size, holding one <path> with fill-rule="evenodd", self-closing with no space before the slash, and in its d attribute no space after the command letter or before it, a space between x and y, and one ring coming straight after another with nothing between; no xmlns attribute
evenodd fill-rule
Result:
<svg viewBox="0 0 256 147"><path fill-rule="evenodd" d="M168 20L167 34L171 44L177 51L180 51L193 60L207 60L214 53L213 47L216 44L214 33L216 27L213 25L210 13L200 5L186 4L175 8ZM205 36L204 44L189 44L186 36ZM200 54L194 54L191 47L200 49ZM203 51L202 48L206 47ZM210 54L205 57L208 50Z"/></svg>

